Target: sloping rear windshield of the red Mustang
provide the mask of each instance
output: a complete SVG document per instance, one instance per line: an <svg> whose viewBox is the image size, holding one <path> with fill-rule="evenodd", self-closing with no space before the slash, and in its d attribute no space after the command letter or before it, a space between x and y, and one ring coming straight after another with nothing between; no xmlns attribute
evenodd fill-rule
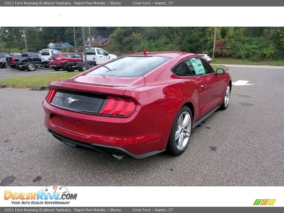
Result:
<svg viewBox="0 0 284 213"><path fill-rule="evenodd" d="M154 70L160 65L169 61L168 57L148 56L133 57L128 56L115 61L111 61L104 66L88 72L87 75L121 76L135 77L141 76Z"/></svg>

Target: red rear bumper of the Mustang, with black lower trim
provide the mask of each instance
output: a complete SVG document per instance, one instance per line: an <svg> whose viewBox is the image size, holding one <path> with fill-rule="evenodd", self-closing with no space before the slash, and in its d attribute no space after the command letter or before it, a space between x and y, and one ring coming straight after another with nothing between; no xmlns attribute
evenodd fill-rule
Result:
<svg viewBox="0 0 284 213"><path fill-rule="evenodd" d="M107 155L118 151L137 159L165 150L172 122L154 122L138 111L130 117L84 114L51 106L45 100L43 109L46 127L59 140L95 151L101 147Z"/></svg>

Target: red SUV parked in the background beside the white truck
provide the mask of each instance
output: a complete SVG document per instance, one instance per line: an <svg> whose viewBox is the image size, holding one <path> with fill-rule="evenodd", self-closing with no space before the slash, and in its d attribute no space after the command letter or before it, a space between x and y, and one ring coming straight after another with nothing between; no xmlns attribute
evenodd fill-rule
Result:
<svg viewBox="0 0 284 213"><path fill-rule="evenodd" d="M78 67L78 62L83 62L83 57L76 53L57 53L49 58L49 67L54 70L63 69L73 72Z"/></svg>

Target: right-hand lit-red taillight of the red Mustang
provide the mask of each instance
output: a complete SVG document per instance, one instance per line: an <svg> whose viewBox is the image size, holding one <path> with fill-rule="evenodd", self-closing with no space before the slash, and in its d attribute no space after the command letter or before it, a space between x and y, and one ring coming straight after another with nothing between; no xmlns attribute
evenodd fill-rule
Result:
<svg viewBox="0 0 284 213"><path fill-rule="evenodd" d="M99 114L110 116L128 116L134 112L136 104L131 99L107 96Z"/></svg>

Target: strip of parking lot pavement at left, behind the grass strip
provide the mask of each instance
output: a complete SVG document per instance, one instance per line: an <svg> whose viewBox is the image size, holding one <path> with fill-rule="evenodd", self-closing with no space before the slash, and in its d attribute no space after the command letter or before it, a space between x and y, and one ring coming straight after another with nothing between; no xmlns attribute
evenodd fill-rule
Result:
<svg viewBox="0 0 284 213"><path fill-rule="evenodd" d="M17 69L4 69L0 68L0 79L5 78L14 78L14 77L22 77L22 76L28 76L28 75L42 75L42 74L49 74L49 73L55 73L55 72L67 72L63 70L55 71L52 68L43 68L38 67L35 71L29 72L27 70L20 71Z"/></svg>

